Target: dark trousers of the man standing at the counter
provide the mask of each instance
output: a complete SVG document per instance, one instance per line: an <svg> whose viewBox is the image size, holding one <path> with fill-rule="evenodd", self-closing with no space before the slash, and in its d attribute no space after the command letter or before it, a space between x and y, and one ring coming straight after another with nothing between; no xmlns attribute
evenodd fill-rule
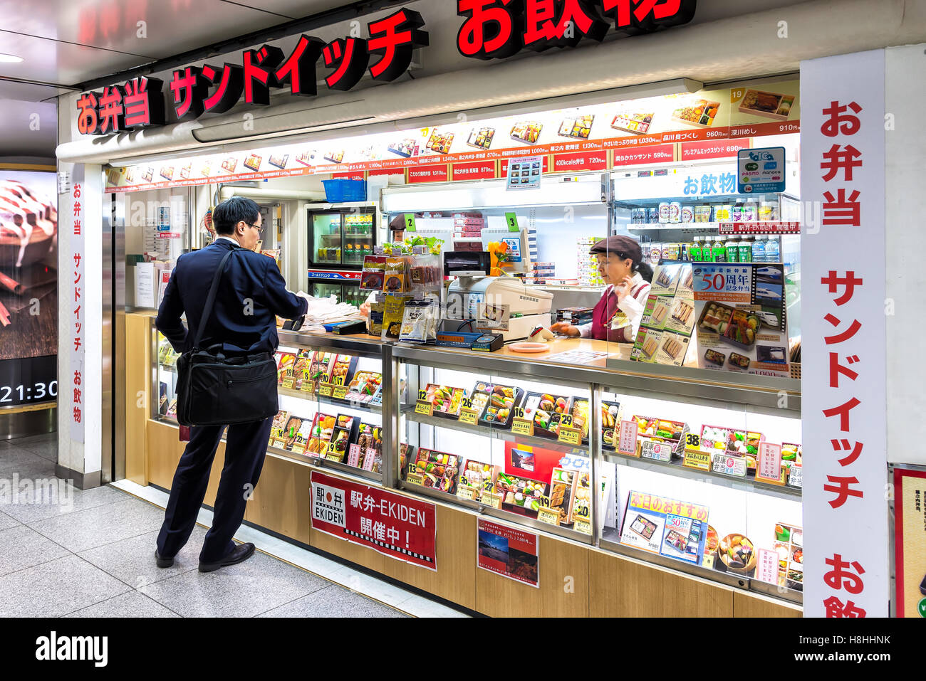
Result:
<svg viewBox="0 0 926 681"><path fill-rule="evenodd" d="M244 505L257 487L257 478L267 455L267 440L273 418L228 427L225 465L216 494L212 527L206 533L199 560L218 563L234 548L232 537L244 519ZM190 441L177 464L164 525L157 536L157 552L169 558L190 539L196 515L206 497L209 472L224 426L190 429Z"/></svg>

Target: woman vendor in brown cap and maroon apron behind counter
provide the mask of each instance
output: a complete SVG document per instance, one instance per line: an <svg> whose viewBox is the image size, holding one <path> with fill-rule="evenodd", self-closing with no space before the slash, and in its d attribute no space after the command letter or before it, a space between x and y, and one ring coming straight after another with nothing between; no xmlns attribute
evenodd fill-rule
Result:
<svg viewBox="0 0 926 681"><path fill-rule="evenodd" d="M557 322L551 329L564 336L632 343L643 318L653 269L643 262L640 244L630 237L613 236L592 246L598 271L608 284L594 306L592 322L578 327Z"/></svg>

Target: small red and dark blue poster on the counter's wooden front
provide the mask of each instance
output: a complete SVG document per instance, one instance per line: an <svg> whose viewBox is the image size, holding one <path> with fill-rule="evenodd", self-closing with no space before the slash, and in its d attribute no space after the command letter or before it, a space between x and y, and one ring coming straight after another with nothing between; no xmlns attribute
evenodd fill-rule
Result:
<svg viewBox="0 0 926 681"><path fill-rule="evenodd" d="M478 518L476 565L508 579L540 587L537 535L517 527Z"/></svg>

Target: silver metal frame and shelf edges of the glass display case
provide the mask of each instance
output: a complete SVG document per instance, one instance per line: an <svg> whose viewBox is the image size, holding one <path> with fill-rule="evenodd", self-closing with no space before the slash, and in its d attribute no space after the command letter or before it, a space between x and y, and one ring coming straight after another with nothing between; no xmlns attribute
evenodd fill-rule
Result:
<svg viewBox="0 0 926 681"><path fill-rule="evenodd" d="M635 362L620 361L609 363L607 369L596 369L587 366L556 365L544 362L529 362L511 359L491 354L472 353L468 351L434 351L420 346L403 343L383 342L372 339L338 337L333 335L310 335L280 331L280 341L283 346L297 349L328 350L337 353L350 353L359 357L380 358L382 362L382 476L358 470L353 466L328 461L323 458L308 455L299 455L294 452L269 450L281 456L289 456L299 461L307 461L319 468L327 468L332 472L359 477L365 482L382 484L387 489L403 489L409 493L422 497L430 497L445 503L453 503L462 508L468 508L479 514L485 514L505 520L509 523L528 526L547 534L557 535L589 546L600 547L621 555L654 563L677 572L693 576L700 576L710 581L719 582L732 588L741 588L754 592L765 593L770 596L793 602L802 602L803 594L792 589L782 589L775 585L760 582L745 576L722 573L699 565L675 561L660 555L639 551L631 547L618 544L610 539L602 539L600 532L598 495L592 495L592 534L584 535L575 530L548 525L534 518L512 514L505 510L486 506L478 501L460 499L440 490L422 488L418 485L407 484L398 470L397 452L402 441L401 418L406 417L407 423L419 423L424 426L436 426L458 429L470 433L479 433L482 436L499 437L504 440L531 442L540 445L550 445L555 440L542 440L526 436L513 435L510 431L490 429L488 427L470 427L458 424L449 419L434 416L416 415L411 405L403 405L401 381L394 380L402 375L401 365L407 366L408 389L411 390L412 381L417 382L418 367L444 368L456 371L482 372L493 377L510 378L513 380L545 379L555 382L557 386L579 388L590 392L590 425L588 444L582 444L575 449L584 449L589 456L589 464L593 489L600 489L600 463L603 461L639 467L670 475L704 478L710 477L712 483L732 489L756 491L762 494L775 496L788 500L800 500L801 489L770 485L748 478L728 477L709 471L695 471L683 468L678 464L662 464L657 461L625 456L616 452L605 452L602 447L600 410L602 395L605 391L617 391L620 394L632 396L642 395L651 398L663 399L669 402L700 403L710 406L735 404L738 409L746 413L788 415L800 417L800 381L793 378L772 378L761 376L745 376L730 374L718 380L718 372L704 369L678 368L659 365L640 365ZM152 385L157 385L157 353L156 330L152 324L153 366L152 373L155 378ZM640 371L639 369L644 369ZM387 390L388 389L388 390ZM786 398L786 399L782 399ZM307 396L308 400L327 402L316 395ZM155 402L156 401L152 401ZM338 403L338 402L332 402ZM152 408L151 418L162 419Z"/></svg>

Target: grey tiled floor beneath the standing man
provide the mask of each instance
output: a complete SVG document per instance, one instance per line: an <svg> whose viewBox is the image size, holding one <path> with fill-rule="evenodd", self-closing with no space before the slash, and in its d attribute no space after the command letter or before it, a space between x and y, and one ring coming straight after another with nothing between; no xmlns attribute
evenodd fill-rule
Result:
<svg viewBox="0 0 926 681"><path fill-rule="evenodd" d="M460 615L250 527L236 536L257 545L244 563L201 574L197 526L159 569L167 495L126 481L81 491L57 480L55 461L54 435L0 441L0 616Z"/></svg>

